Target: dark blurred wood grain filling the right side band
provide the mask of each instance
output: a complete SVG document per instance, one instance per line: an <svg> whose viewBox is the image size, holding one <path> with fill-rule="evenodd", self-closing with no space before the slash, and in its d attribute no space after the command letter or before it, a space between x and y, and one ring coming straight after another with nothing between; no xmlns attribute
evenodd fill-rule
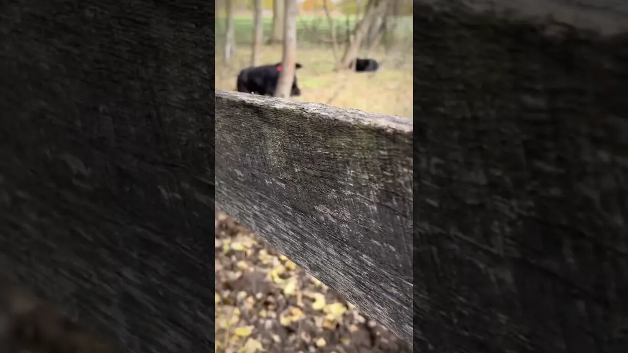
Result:
<svg viewBox="0 0 628 353"><path fill-rule="evenodd" d="M414 3L414 348L626 352L628 35L479 5Z"/></svg>

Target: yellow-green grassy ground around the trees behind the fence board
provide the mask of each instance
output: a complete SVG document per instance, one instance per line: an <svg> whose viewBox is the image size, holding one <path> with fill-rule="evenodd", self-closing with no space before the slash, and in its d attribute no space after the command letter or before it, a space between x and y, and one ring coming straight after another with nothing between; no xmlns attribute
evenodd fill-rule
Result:
<svg viewBox="0 0 628 353"><path fill-rule="evenodd" d="M314 23L320 22L314 26ZM405 18L398 24L406 26ZM235 90L236 78L242 68L251 65L252 19L236 16L236 57L229 64L224 62L224 43L221 31L217 28L216 45L216 89ZM385 49L383 46L369 53L369 57L381 63L376 73L333 72L331 45L317 42L317 38L328 38L329 28L325 18L301 16L299 26L304 33L298 40L297 61L303 65L298 70L297 79L301 89L298 102L318 102L330 106L360 109L398 116L411 117L413 114L413 61L412 30L404 33ZM411 26L411 20L409 21ZM264 33L271 26L271 18L264 18ZM317 28L316 34L311 28ZM362 53L364 55L364 53ZM263 63L281 61L281 45L264 45Z"/></svg>

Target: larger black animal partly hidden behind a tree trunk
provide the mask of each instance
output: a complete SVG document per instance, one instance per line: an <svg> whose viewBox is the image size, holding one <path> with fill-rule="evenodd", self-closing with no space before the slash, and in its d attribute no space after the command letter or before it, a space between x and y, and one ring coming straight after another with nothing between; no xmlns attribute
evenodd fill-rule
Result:
<svg viewBox="0 0 628 353"><path fill-rule="evenodd" d="M296 68L301 67L300 63L296 63ZM260 95L274 95L277 89L281 68L281 63L245 68L237 75L237 91ZM292 88L290 89L290 96L294 95L301 95L301 90L296 85L296 75L292 83Z"/></svg>

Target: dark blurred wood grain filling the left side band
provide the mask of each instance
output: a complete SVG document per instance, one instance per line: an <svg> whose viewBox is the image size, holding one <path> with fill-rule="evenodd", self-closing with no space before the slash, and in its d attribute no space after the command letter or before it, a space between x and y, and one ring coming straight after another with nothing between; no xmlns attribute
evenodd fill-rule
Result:
<svg viewBox="0 0 628 353"><path fill-rule="evenodd" d="M121 352L214 350L213 11L0 2L0 268Z"/></svg>

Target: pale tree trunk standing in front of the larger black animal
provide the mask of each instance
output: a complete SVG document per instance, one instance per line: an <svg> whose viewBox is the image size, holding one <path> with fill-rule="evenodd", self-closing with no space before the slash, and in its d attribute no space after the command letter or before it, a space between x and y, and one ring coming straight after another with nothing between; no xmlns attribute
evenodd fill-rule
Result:
<svg viewBox="0 0 628 353"><path fill-rule="evenodd" d="M276 97L290 97L296 65L296 0L285 0L283 21L283 69L279 72Z"/></svg>

